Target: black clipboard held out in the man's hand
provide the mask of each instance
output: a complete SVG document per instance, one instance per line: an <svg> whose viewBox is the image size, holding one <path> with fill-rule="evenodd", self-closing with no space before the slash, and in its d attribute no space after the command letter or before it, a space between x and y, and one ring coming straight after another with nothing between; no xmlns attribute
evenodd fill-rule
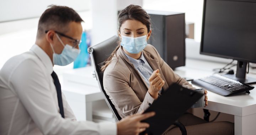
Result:
<svg viewBox="0 0 256 135"><path fill-rule="evenodd" d="M184 88L176 83L169 86L167 90L160 96L151 106L145 110L146 112L154 111L155 116L143 120L150 124L150 127L140 135L147 133L148 135L161 135L175 121L186 112L194 103L196 103L203 95L196 91Z"/></svg>

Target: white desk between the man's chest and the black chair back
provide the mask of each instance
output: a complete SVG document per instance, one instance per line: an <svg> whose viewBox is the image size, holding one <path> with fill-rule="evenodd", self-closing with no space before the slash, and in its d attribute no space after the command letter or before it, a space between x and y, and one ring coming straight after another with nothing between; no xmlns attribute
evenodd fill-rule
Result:
<svg viewBox="0 0 256 135"><path fill-rule="evenodd" d="M104 100L92 66L70 70L63 74L62 91L79 121L92 121L92 104Z"/></svg>

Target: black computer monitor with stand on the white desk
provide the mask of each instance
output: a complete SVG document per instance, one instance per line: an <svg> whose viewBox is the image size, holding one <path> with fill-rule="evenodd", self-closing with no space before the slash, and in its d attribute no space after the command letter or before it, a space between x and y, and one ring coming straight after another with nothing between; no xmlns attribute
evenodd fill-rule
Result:
<svg viewBox="0 0 256 135"><path fill-rule="evenodd" d="M256 63L256 0L204 0L200 54L238 60L228 77L255 83L246 69Z"/></svg>

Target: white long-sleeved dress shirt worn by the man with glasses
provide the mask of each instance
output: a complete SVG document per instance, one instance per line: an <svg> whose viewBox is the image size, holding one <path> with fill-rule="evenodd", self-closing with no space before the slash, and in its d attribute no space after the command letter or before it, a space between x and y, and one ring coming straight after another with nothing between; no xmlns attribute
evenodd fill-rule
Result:
<svg viewBox="0 0 256 135"><path fill-rule="evenodd" d="M59 113L53 65L38 45L9 59L0 70L0 135L115 135L116 123L76 121L62 94Z"/></svg>

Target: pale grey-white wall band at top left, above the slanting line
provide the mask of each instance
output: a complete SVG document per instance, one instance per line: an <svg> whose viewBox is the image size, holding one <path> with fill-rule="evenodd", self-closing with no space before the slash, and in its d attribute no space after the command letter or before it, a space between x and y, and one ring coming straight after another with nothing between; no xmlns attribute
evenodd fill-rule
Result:
<svg viewBox="0 0 256 135"><path fill-rule="evenodd" d="M1 0L0 22L40 17L52 4L69 6L76 11L90 9L90 0Z"/></svg>

